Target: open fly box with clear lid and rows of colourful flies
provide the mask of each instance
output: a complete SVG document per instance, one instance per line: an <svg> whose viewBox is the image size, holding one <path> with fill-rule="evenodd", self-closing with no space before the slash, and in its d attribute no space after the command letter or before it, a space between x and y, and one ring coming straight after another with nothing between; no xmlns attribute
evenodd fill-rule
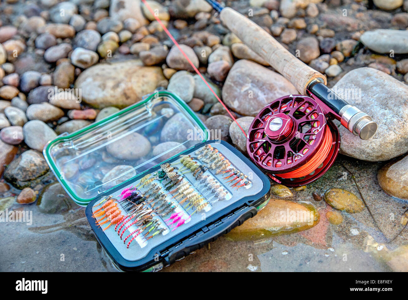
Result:
<svg viewBox="0 0 408 300"><path fill-rule="evenodd" d="M233 146L208 140L169 91L44 147L98 241L124 271L157 271L256 215L268 178Z"/></svg>

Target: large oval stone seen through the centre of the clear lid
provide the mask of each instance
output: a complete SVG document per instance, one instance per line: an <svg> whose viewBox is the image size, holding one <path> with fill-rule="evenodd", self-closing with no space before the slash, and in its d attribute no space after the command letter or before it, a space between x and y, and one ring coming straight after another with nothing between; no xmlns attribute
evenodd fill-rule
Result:
<svg viewBox="0 0 408 300"><path fill-rule="evenodd" d="M151 144L147 138L133 132L108 144L106 150L116 158L134 160L147 155L151 150Z"/></svg>

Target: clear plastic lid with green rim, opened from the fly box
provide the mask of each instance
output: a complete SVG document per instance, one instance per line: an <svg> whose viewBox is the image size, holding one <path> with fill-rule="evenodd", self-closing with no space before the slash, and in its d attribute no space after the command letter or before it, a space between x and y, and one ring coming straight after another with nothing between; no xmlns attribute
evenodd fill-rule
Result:
<svg viewBox="0 0 408 300"><path fill-rule="evenodd" d="M86 205L101 193L207 140L202 121L169 91L44 147L44 157L71 198Z"/></svg>

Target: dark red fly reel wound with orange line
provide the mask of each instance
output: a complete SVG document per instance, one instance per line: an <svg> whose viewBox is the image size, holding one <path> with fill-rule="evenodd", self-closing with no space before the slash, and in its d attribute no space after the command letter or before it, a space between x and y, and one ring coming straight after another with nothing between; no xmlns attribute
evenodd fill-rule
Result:
<svg viewBox="0 0 408 300"><path fill-rule="evenodd" d="M337 126L310 97L284 96L264 107L248 130L246 149L269 177L299 187L321 177L340 147Z"/></svg>

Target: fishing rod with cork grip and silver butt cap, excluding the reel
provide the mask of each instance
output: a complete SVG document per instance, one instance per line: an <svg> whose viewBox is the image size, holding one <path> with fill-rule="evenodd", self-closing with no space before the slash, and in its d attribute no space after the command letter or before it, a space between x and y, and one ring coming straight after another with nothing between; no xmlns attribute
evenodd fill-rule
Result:
<svg viewBox="0 0 408 300"><path fill-rule="evenodd" d="M355 136L368 140L374 135L377 123L329 89L323 74L297 59L269 33L241 13L230 7L222 7L213 0L206 2L220 13L220 20L228 29L288 79L299 92L317 100L326 113L339 120Z"/></svg>

